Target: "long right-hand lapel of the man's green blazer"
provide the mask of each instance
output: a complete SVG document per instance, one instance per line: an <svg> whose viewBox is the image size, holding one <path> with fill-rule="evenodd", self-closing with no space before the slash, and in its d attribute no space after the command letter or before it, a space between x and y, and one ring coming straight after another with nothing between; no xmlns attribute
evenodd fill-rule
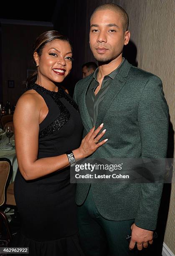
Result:
<svg viewBox="0 0 175 256"><path fill-rule="evenodd" d="M115 97L117 97L119 91L122 89L124 84L127 82L127 76L129 73L129 69L132 65L128 63L127 60L124 61L123 65L119 68L119 72L116 74L112 83L109 86L109 89L104 96L104 99L99 104L98 116L96 119L96 128L103 123L103 119L107 113L107 110L111 106Z"/></svg>

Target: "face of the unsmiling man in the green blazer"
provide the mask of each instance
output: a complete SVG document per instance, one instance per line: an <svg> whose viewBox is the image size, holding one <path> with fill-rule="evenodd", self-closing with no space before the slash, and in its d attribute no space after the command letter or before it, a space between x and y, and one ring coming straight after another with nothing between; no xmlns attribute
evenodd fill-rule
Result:
<svg viewBox="0 0 175 256"><path fill-rule="evenodd" d="M112 10L98 10L90 20L89 44L99 62L113 62L129 42L129 31L124 32L122 18Z"/></svg>

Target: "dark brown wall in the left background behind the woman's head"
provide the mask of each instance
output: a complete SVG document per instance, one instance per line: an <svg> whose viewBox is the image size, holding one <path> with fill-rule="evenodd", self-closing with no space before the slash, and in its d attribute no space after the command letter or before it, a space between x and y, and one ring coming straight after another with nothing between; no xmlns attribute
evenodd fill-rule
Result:
<svg viewBox="0 0 175 256"><path fill-rule="evenodd" d="M16 104L25 91L27 70L35 69L32 48L36 37L53 26L31 26L1 23L3 103L10 100ZM8 80L14 80L15 87L8 88Z"/></svg>

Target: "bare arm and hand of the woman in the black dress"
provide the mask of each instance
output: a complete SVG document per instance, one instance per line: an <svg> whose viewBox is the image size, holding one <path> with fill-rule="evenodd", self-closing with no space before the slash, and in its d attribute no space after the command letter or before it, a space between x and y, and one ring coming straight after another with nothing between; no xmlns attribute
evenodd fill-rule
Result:
<svg viewBox="0 0 175 256"><path fill-rule="evenodd" d="M66 154L37 159L40 111L41 106L38 104L37 95L26 93L18 100L13 117L18 166L26 180L37 179L69 166ZM73 151L76 160L92 154L105 143L105 141L97 145L93 143L93 139L101 128L97 128L96 131L94 128L91 129L82 141L83 145ZM97 140L103 135L104 133L98 135Z"/></svg>

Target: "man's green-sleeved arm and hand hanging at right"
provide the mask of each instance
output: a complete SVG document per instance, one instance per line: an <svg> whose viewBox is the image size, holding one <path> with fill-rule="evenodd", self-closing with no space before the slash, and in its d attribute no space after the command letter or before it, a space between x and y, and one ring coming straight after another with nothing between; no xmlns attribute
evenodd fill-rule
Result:
<svg viewBox="0 0 175 256"><path fill-rule="evenodd" d="M152 76L142 92L138 108L138 123L142 146L142 159L166 158L168 139L168 107L162 82ZM137 248L152 243L150 230L155 230L163 184L141 184L141 195L135 223L132 226L130 248L137 241ZM151 236L150 236L151 235Z"/></svg>

